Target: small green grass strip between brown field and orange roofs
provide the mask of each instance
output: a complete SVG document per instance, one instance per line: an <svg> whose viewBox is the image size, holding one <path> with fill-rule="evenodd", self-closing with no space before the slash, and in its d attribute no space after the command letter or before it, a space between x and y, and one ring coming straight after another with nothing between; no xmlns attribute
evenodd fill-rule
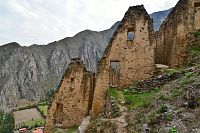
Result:
<svg viewBox="0 0 200 133"><path fill-rule="evenodd" d="M36 119L25 122L25 126L28 127L29 129L38 126L44 126L44 124L45 124L45 119Z"/></svg>

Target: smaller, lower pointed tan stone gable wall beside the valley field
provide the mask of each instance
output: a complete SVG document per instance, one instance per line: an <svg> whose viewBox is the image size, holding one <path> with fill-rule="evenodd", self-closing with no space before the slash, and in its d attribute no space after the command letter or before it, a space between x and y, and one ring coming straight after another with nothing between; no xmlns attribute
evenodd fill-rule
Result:
<svg viewBox="0 0 200 133"><path fill-rule="evenodd" d="M55 93L46 117L45 133L55 127L79 125L92 107L94 74L73 59Z"/></svg>

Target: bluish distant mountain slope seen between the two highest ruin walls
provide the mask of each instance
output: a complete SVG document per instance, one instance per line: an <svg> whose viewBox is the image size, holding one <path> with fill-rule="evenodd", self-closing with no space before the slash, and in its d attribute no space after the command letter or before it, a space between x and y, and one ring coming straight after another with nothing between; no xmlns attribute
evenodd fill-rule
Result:
<svg viewBox="0 0 200 133"><path fill-rule="evenodd" d="M168 14L172 11L172 9L173 8L170 8L170 9L164 10L164 11L155 12L150 15L154 21L153 26L154 26L155 31L159 30L160 25L167 18Z"/></svg>

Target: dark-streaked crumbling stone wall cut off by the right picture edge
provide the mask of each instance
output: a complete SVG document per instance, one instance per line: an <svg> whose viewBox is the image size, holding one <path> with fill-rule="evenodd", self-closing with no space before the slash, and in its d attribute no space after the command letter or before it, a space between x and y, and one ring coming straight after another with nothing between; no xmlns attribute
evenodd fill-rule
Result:
<svg viewBox="0 0 200 133"><path fill-rule="evenodd" d="M186 34L200 28L200 1L180 0L157 33L156 63L181 66L186 59Z"/></svg>

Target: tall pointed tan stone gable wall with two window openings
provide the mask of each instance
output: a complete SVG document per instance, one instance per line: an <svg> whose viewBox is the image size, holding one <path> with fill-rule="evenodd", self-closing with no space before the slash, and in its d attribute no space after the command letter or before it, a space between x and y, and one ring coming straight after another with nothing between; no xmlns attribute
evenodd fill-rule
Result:
<svg viewBox="0 0 200 133"><path fill-rule="evenodd" d="M143 5L130 7L98 64L92 114L103 111L110 86L146 79L154 64L152 20Z"/></svg>

